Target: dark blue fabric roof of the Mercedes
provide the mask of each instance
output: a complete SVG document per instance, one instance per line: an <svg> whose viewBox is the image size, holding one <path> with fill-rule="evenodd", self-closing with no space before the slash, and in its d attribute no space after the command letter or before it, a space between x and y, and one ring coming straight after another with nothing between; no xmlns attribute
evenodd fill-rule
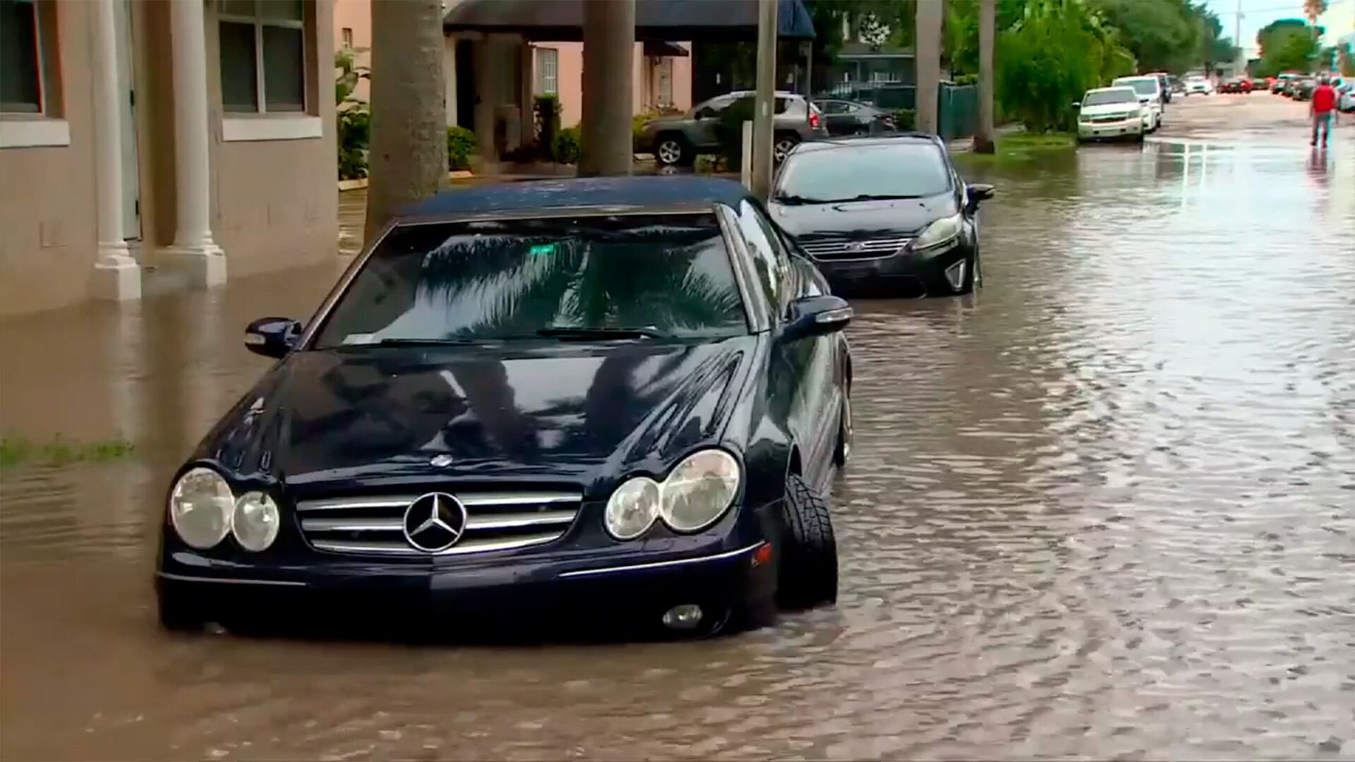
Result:
<svg viewBox="0 0 1355 762"><path fill-rule="evenodd" d="M539 214L570 210L581 214L608 212L701 212L715 203L738 206L751 198L734 180L696 176L583 178L500 183L465 190L444 190L397 214L397 221L430 217L478 217Z"/></svg>

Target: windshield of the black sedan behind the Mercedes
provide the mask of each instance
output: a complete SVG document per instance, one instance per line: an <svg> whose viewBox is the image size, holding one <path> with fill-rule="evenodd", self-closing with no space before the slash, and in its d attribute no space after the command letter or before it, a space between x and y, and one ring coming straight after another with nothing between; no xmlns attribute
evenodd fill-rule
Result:
<svg viewBox="0 0 1355 762"><path fill-rule="evenodd" d="M920 198L950 190L950 168L931 142L894 141L793 153L775 198L806 203Z"/></svg>

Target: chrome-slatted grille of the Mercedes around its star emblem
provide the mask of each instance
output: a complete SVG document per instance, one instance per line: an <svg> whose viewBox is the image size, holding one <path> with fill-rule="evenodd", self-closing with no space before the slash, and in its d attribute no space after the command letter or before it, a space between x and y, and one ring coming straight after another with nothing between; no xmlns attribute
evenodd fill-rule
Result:
<svg viewBox="0 0 1355 762"><path fill-rule="evenodd" d="M466 507L461 538L438 556L511 550L564 537L583 503L568 492L455 492ZM405 540L405 508L419 494L297 503L301 533L317 550L427 556Z"/></svg>

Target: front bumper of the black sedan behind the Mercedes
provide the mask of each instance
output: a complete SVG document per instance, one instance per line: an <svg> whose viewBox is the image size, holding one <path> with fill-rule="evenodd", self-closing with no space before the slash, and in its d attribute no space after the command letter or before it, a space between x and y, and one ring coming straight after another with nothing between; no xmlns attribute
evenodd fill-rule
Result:
<svg viewBox="0 0 1355 762"><path fill-rule="evenodd" d="M814 264L835 292L883 292L890 296L944 297L957 293L946 270L973 263L974 248L957 241L924 252L902 251L870 259L818 259Z"/></svg>

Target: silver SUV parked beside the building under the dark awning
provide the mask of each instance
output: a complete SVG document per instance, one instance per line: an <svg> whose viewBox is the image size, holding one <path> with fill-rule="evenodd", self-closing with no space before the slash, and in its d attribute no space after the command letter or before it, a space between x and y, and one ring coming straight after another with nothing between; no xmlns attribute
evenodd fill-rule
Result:
<svg viewBox="0 0 1355 762"><path fill-rule="evenodd" d="M653 153L664 165L691 164L699 153L720 151L720 115L734 103L752 100L751 89L728 92L698 103L682 117L650 119L635 136L635 151ZM828 137L818 107L794 92L776 94L776 113L772 121L775 157L779 163L795 144L817 137Z"/></svg>

